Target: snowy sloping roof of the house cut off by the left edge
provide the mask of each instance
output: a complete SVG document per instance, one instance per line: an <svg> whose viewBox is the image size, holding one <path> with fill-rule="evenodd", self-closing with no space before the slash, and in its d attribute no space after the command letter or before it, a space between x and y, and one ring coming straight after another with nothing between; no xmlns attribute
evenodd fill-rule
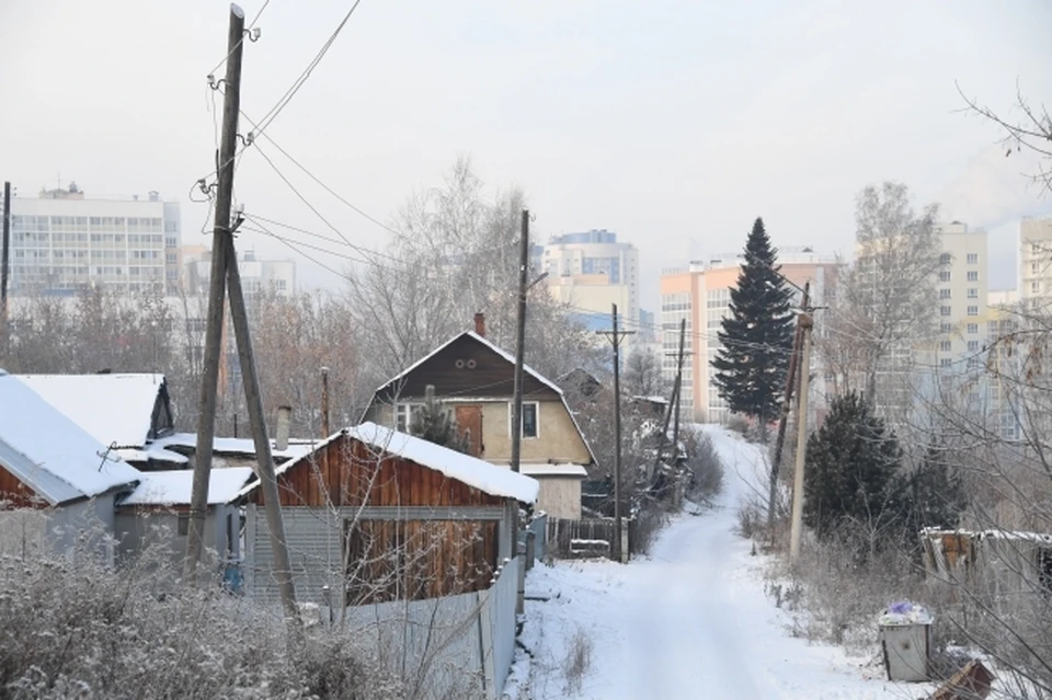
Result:
<svg viewBox="0 0 1052 700"><path fill-rule="evenodd" d="M134 484L141 477L62 411L3 370L0 466L52 505Z"/></svg>

